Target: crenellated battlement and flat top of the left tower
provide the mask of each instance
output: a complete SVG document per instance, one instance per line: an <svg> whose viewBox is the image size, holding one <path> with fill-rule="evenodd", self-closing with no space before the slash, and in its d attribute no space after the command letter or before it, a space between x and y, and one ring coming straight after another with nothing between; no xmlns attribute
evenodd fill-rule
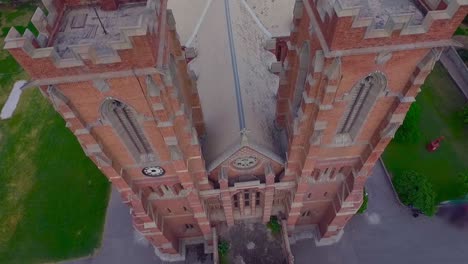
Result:
<svg viewBox="0 0 468 264"><path fill-rule="evenodd" d="M67 6L44 0L48 10L37 8L31 22L35 37L11 28L5 49L22 49L31 58L50 58L57 68L121 62L117 51L133 48L132 37L145 36L158 28L160 0L121 4L114 10L97 6Z"/></svg>

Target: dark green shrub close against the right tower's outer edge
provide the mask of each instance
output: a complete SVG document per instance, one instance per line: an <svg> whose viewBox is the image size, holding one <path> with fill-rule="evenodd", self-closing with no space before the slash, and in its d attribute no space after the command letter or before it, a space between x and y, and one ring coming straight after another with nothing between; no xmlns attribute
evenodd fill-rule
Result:
<svg viewBox="0 0 468 264"><path fill-rule="evenodd" d="M417 103L411 105L406 114L405 121L395 134L395 141L399 143L415 143L421 136L418 123L421 115L421 108Z"/></svg>

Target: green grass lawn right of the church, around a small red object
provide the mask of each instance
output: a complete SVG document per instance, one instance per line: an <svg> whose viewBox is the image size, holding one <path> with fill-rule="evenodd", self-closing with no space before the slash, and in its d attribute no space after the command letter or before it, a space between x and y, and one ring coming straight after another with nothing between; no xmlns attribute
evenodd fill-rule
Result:
<svg viewBox="0 0 468 264"><path fill-rule="evenodd" d="M457 174L468 168L468 127L462 123L461 107L466 103L448 72L437 64L416 98L421 108L421 138L415 144L392 142L383 159L392 174L415 170L427 176L437 194L436 201L459 198L462 189ZM444 136L433 153L425 149L431 140Z"/></svg>

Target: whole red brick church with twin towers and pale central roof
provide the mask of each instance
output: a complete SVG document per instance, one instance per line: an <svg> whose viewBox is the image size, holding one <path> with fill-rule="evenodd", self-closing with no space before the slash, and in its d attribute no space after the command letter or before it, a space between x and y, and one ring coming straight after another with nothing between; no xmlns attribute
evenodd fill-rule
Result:
<svg viewBox="0 0 468 264"><path fill-rule="evenodd" d="M327 245L468 13L398 2L44 0L5 49L162 259L272 216Z"/></svg>

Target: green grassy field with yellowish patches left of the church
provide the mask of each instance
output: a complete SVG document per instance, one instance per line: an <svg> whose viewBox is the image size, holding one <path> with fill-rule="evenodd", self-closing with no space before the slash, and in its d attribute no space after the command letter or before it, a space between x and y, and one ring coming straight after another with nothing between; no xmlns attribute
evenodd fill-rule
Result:
<svg viewBox="0 0 468 264"><path fill-rule="evenodd" d="M33 12L0 9L2 32L24 29ZM0 108L17 79L27 75L0 50ZM0 180L0 263L58 261L99 247L109 183L38 90L0 121Z"/></svg>

